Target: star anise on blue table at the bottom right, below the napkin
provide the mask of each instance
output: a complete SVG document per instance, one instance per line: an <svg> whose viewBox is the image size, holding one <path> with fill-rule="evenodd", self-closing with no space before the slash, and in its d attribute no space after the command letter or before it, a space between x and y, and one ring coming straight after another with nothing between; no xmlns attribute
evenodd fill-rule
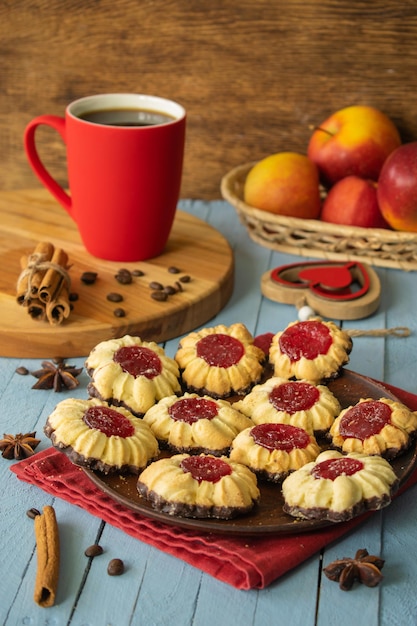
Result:
<svg viewBox="0 0 417 626"><path fill-rule="evenodd" d="M333 561L323 569L323 572L330 580L337 581L343 591L349 591L355 580L367 587L376 587L383 579L381 569L384 563L384 559L372 556L367 550L362 549L356 552L354 559Z"/></svg>

